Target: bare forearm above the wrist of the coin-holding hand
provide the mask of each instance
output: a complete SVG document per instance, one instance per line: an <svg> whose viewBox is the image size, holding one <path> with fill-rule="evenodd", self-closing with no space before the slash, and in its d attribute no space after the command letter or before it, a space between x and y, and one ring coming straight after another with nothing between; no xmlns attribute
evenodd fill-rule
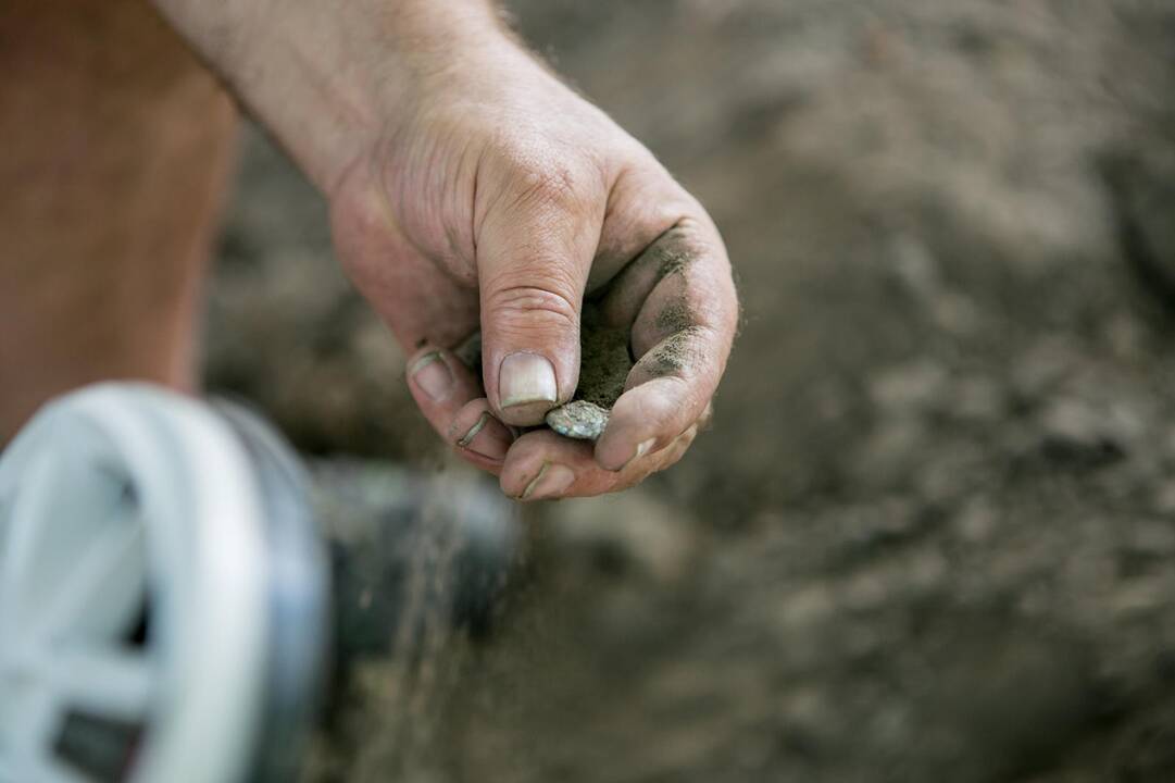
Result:
<svg viewBox="0 0 1175 783"><path fill-rule="evenodd" d="M429 79L510 46L490 0L154 0L324 192Z"/></svg>

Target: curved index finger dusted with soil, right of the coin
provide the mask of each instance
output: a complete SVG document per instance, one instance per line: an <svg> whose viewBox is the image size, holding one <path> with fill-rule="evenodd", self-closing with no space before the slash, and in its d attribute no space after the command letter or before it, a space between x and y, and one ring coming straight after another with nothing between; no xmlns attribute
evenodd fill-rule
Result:
<svg viewBox="0 0 1175 783"><path fill-rule="evenodd" d="M595 450L602 468L620 470L693 427L721 379L738 299L717 229L680 221L617 276L602 309L631 324L637 357Z"/></svg>

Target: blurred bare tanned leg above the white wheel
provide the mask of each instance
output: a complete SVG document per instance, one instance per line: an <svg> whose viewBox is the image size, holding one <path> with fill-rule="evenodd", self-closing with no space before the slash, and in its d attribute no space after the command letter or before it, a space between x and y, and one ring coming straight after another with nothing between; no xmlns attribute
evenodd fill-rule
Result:
<svg viewBox="0 0 1175 783"><path fill-rule="evenodd" d="M0 4L0 446L85 383L193 388L234 128L146 0Z"/></svg>

